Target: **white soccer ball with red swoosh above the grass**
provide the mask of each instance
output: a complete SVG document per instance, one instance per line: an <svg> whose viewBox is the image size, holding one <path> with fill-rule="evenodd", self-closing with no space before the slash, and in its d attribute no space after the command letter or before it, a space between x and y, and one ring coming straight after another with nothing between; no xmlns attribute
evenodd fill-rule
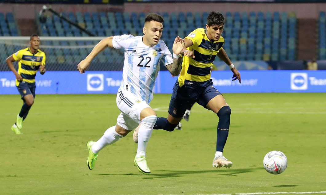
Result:
<svg viewBox="0 0 326 195"><path fill-rule="evenodd" d="M283 152L274 150L265 155L263 163L268 173L277 175L286 169L288 166L288 159Z"/></svg>

